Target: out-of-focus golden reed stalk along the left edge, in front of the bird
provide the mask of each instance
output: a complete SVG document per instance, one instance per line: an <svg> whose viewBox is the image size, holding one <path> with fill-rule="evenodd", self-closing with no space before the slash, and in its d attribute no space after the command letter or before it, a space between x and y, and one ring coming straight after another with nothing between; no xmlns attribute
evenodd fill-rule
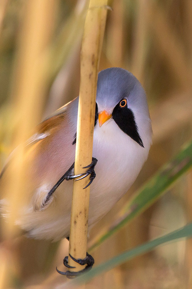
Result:
<svg viewBox="0 0 192 289"><path fill-rule="evenodd" d="M44 92L47 90L47 83L42 78L42 55L54 30L54 12L57 10L57 2L56 0L34 0L25 3L25 17L18 36L11 93L14 115L12 122L16 123L13 148L25 142L31 129L41 119L42 105L46 96ZM14 256L12 238L19 233L15 221L28 193L22 190L23 156L23 146L20 145L10 165L10 178L5 187L11 213L10 222L2 226L6 250L0 268L0 288L3 288L2 284L7 285L12 279L11 274L15 273L13 268L17 268L16 274L19 274L19 263L16 257L11 256ZM17 278L19 279L19 275Z"/></svg>

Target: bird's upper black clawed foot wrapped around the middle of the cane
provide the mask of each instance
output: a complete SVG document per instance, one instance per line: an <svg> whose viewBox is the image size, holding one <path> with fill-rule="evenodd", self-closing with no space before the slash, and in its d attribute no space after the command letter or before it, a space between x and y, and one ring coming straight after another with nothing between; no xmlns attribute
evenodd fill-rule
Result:
<svg viewBox="0 0 192 289"><path fill-rule="evenodd" d="M90 175L89 184L87 184L84 187L84 189L85 189L85 188L89 187L89 185L91 185L92 181L95 179L96 174L95 174L94 168L95 168L96 164L97 164L97 159L96 158L92 158L91 164L89 164L89 166L83 167L83 168L89 168L86 171L86 173L79 174L79 175L74 175L74 163L73 163L72 166L69 168L69 170L65 173L65 179L68 181L68 180L80 177L80 178L76 179L76 181L78 181L78 180L84 179L85 177Z"/></svg>

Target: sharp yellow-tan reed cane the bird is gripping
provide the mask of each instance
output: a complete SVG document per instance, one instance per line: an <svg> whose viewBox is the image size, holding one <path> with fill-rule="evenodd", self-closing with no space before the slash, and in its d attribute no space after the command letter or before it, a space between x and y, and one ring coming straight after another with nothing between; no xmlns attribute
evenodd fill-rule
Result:
<svg viewBox="0 0 192 289"><path fill-rule="evenodd" d="M75 174L84 173L87 169L83 167L92 162L97 75L107 8L107 0L90 0L85 20L81 48ZM88 182L89 178L86 177L74 181L73 186L69 253L76 259L86 257L90 186L84 190L83 188ZM70 257L69 265L76 267L71 271L84 268Z"/></svg>

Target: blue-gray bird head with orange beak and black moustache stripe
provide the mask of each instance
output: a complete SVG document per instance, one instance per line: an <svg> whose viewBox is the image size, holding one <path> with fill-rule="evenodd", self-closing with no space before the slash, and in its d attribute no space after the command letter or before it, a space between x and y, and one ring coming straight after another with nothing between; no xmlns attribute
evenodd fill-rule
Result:
<svg viewBox="0 0 192 289"><path fill-rule="evenodd" d="M101 126L112 118L120 129L143 147L139 131L150 122L144 89L129 71L112 67L99 72L96 109Z"/></svg>

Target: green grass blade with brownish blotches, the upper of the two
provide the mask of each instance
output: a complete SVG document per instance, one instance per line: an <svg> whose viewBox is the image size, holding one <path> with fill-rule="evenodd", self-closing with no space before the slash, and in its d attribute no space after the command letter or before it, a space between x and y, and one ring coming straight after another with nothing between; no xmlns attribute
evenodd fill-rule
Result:
<svg viewBox="0 0 192 289"><path fill-rule="evenodd" d="M95 249L104 240L113 235L116 231L144 212L166 190L192 166L192 142L185 146L178 155L165 164L132 198L122 209L122 215L106 233L100 236L89 248Z"/></svg>

